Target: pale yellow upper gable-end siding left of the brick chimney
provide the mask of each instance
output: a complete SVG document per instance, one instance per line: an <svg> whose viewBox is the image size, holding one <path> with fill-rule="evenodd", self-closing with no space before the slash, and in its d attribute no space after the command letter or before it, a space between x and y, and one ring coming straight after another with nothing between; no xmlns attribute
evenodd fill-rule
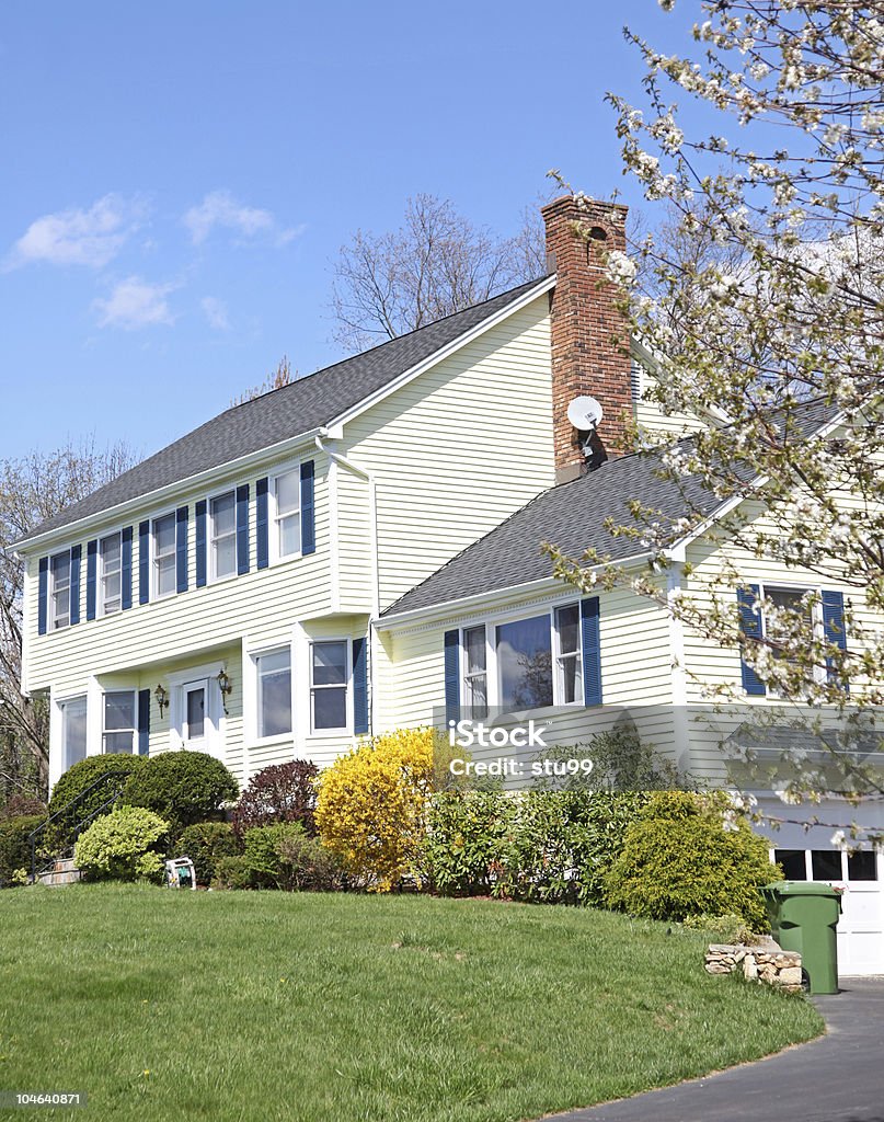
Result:
<svg viewBox="0 0 884 1122"><path fill-rule="evenodd" d="M377 478L381 608L552 486L549 332L541 296L347 425L339 451ZM339 479L341 587L365 610L368 487Z"/></svg>

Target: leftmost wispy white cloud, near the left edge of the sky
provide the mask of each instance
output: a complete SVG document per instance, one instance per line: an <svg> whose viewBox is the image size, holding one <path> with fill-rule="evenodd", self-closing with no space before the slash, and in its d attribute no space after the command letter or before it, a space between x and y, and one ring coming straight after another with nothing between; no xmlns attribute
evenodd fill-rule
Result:
<svg viewBox="0 0 884 1122"><path fill-rule="evenodd" d="M104 195L89 210L58 211L35 219L7 256L4 268L33 261L102 268L112 260L144 217L144 205Z"/></svg>

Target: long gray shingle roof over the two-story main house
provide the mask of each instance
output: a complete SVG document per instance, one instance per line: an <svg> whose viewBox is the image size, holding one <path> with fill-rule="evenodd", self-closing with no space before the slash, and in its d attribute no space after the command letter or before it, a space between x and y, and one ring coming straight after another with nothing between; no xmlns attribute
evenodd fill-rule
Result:
<svg viewBox="0 0 884 1122"><path fill-rule="evenodd" d="M28 534L28 539L329 424L416 364L526 295L543 279L519 285L482 304L436 320L407 335L399 335L316 374L298 378L282 389L227 410L80 503L47 518Z"/></svg>

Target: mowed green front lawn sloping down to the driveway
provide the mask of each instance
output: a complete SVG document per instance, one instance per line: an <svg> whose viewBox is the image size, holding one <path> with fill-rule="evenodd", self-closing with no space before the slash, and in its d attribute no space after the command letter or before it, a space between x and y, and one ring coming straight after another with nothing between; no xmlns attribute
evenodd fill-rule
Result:
<svg viewBox="0 0 884 1122"><path fill-rule="evenodd" d="M822 1031L802 997L708 976L703 945L487 901L2 892L0 1091L85 1092L28 1112L75 1122L503 1122Z"/></svg>

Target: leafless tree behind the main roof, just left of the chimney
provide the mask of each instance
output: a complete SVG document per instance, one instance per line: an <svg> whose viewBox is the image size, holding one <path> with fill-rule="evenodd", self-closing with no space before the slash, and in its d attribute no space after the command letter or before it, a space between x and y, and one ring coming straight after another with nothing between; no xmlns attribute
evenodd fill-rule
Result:
<svg viewBox="0 0 884 1122"><path fill-rule="evenodd" d="M540 215L523 219L515 237L498 238L449 200L418 194L398 230L358 230L334 269L335 340L363 350L543 276Z"/></svg>

